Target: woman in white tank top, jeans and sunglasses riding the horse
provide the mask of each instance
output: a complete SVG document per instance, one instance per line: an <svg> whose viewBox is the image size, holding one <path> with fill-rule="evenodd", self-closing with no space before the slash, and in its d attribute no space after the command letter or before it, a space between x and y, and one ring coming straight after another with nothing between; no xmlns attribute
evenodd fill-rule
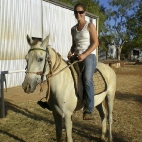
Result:
<svg viewBox="0 0 142 142"><path fill-rule="evenodd" d="M96 56L94 50L98 46L98 37L93 23L85 20L85 6L78 3L74 7L75 18L78 23L71 28L72 46L68 58L73 55L83 63L82 72L84 86L84 120L91 120L94 111L94 83L93 74L96 68Z"/></svg>

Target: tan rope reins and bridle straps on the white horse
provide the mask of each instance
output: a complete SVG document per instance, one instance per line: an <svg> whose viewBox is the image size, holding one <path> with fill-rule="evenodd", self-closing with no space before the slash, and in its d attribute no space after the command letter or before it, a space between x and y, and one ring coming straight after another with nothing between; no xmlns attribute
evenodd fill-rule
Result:
<svg viewBox="0 0 142 142"><path fill-rule="evenodd" d="M64 67L63 69L61 69L60 71L58 71L57 73L55 73L55 71L57 71L57 69L59 68L60 64L61 64L61 55L59 53L57 53L53 48L52 50L55 52L56 54L56 61L55 61L55 64L52 68L52 62L51 62L51 58L50 58L50 54L49 54L49 50L48 50L48 47L46 48L46 50L44 49L41 49L41 48L33 48L33 49L30 49L30 51L33 51L33 50L43 50L46 52L46 57L45 57L45 63L44 63L44 68L43 68L43 71L40 71L40 72L25 72L26 74L27 73L32 73L32 74L37 74L37 75L41 75L41 83L40 83L40 93L43 92L43 89L44 89L44 81L43 81L43 78L45 76L45 72L46 72L46 64L48 62L49 64L49 73L46 75L46 80L47 80L47 86L48 86L48 91L46 93L46 102L48 102L49 98L50 98L50 81L49 81L49 78L50 77L53 77L57 74L59 74L60 72L64 71L66 68L69 68L70 66L72 66L73 64L79 62L79 61L74 61L73 63L71 63L70 65L67 65L66 67ZM28 52L28 53L29 53Z"/></svg>

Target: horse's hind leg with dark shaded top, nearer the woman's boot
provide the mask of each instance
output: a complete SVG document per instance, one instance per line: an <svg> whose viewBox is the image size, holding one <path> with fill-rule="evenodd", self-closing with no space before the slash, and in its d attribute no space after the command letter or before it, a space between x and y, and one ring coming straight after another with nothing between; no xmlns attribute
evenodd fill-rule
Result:
<svg viewBox="0 0 142 142"><path fill-rule="evenodd" d="M105 113L105 109L101 104L99 104L98 106L96 106L97 110L99 111L101 120L102 120L102 135L101 135L101 141L105 141L105 134L106 134L106 113Z"/></svg>

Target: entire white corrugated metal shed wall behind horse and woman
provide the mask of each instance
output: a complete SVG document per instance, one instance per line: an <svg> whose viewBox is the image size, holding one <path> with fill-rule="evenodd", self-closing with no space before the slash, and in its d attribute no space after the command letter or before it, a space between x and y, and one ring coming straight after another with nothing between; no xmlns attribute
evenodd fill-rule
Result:
<svg viewBox="0 0 142 142"><path fill-rule="evenodd" d="M86 20L90 18L86 16ZM92 21L96 25L96 19ZM26 35L45 38L63 58L71 47L73 11L41 0L0 0L0 71L21 70L29 50ZM25 73L6 75L7 87L21 85Z"/></svg>

